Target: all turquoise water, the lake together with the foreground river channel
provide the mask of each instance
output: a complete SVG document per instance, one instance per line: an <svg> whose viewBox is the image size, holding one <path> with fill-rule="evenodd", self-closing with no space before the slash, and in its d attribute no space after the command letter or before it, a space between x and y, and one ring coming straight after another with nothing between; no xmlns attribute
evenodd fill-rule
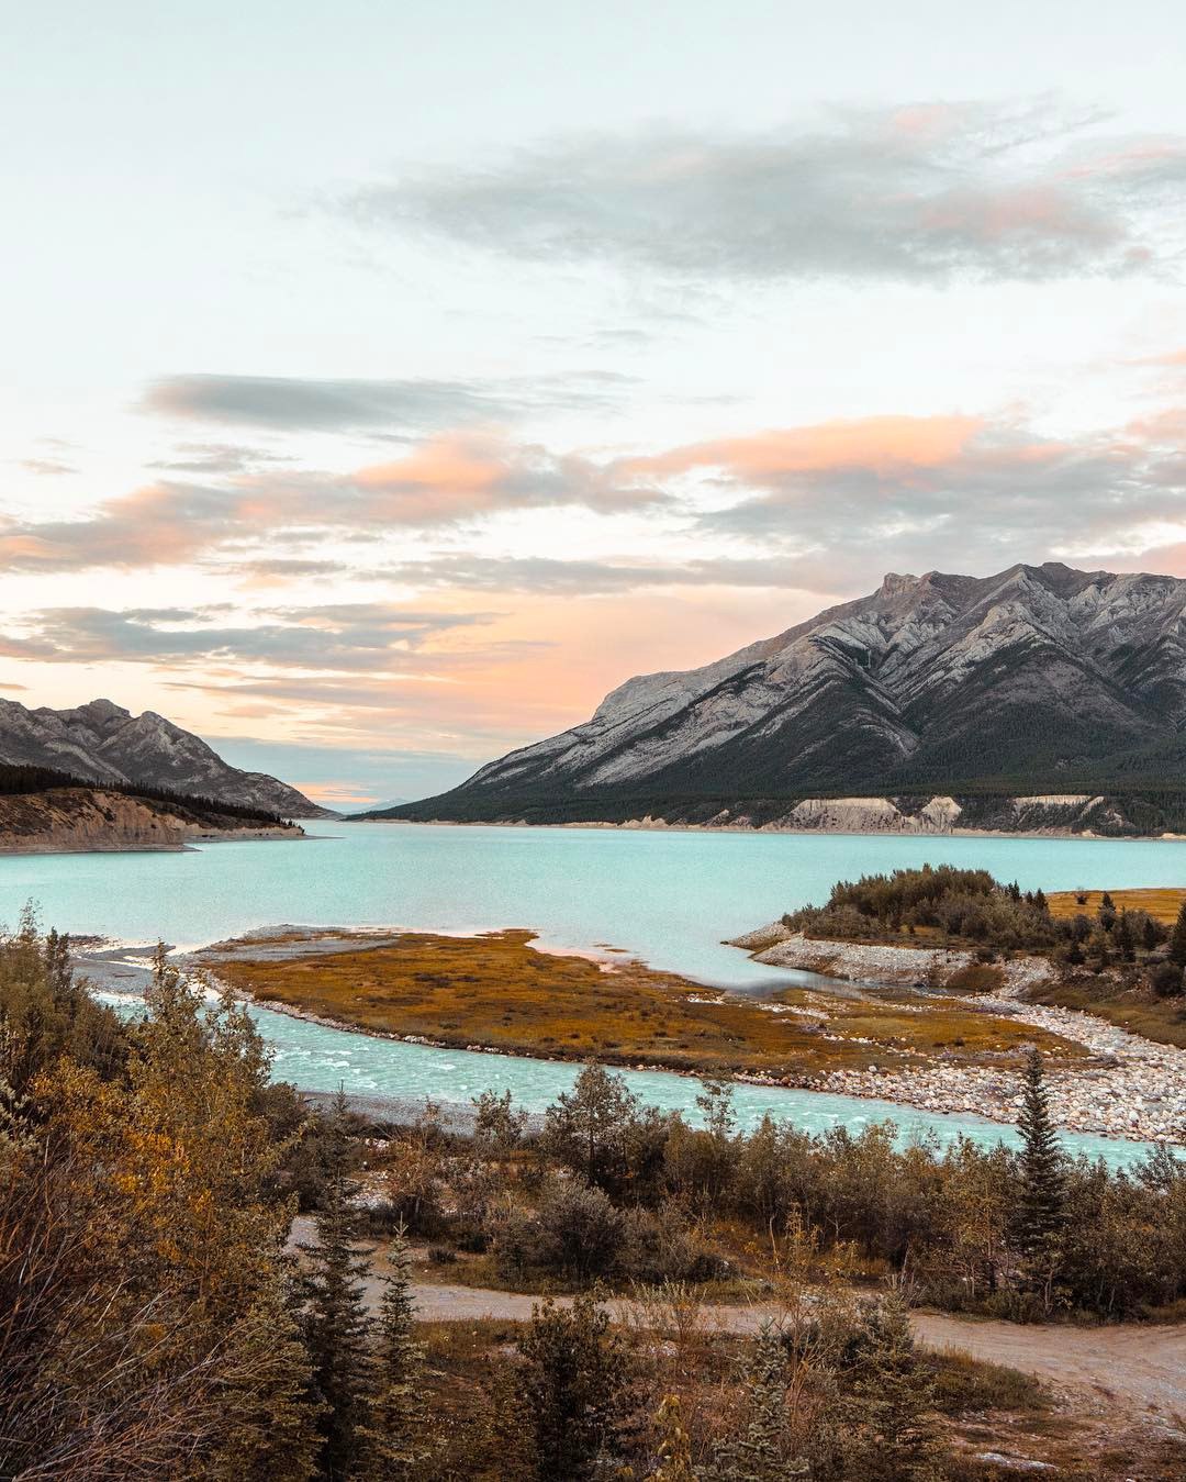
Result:
<svg viewBox="0 0 1186 1482"><path fill-rule="evenodd" d="M603 944L706 983L757 987L788 977L749 962L723 937L758 926L834 880L897 865L983 865L1029 889L1186 883L1186 843L1063 839L896 839L854 834L637 833L598 828L449 828L312 824L309 842L219 843L187 854L37 855L0 860L0 920L34 900L46 925L123 941L197 946L281 922L435 931L532 926L555 947ZM259 1012L275 1073L308 1089L466 1101L509 1088L539 1110L574 1067L401 1045ZM689 1110L681 1076L631 1071L651 1104ZM905 1132L995 1141L1007 1129L927 1116L890 1103L737 1088L742 1117L771 1112L819 1131L893 1117ZM1131 1160L1140 1144L1065 1138L1075 1150Z"/></svg>

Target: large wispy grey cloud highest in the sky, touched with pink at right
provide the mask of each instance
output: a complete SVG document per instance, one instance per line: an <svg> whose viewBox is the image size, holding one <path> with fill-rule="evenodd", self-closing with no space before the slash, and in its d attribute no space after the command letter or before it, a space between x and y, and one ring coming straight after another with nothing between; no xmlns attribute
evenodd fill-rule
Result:
<svg viewBox="0 0 1186 1482"><path fill-rule="evenodd" d="M763 135L586 135L373 184L345 209L523 261L705 280L1145 271L1176 230L1186 141L1097 124L1039 99L832 110Z"/></svg>

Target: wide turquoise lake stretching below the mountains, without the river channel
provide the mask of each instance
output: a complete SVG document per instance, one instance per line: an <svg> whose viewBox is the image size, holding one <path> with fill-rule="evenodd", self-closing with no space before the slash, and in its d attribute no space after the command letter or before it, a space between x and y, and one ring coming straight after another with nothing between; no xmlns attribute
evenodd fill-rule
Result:
<svg viewBox="0 0 1186 1482"><path fill-rule="evenodd" d="M532 926L545 944L626 948L651 966L745 987L771 969L721 938L822 901L834 880L897 865L983 865L1025 889L1186 885L1186 842L640 833L612 828L308 825L308 842L187 854L0 858L0 920L36 900L47 925L195 946L256 926Z"/></svg>

